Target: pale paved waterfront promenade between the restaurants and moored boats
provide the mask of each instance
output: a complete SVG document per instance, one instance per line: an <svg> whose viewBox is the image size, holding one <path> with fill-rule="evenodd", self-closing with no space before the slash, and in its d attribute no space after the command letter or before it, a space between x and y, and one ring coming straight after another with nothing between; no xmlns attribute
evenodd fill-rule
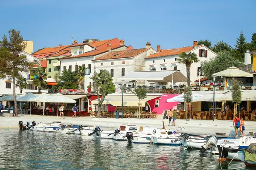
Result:
<svg viewBox="0 0 256 170"><path fill-rule="evenodd" d="M226 133L230 135L230 131L233 131L232 128L233 121L230 120L193 120L186 121L184 119L177 119L176 126L168 126L169 120L158 118L158 119L115 119L115 118L91 118L91 117L65 117L65 119L59 119L57 116L39 116L39 115L19 115L17 117L0 117L0 128L18 128L18 122L23 121L25 125L27 121L36 123L43 122L48 123L52 121L61 121L62 123L72 123L75 125L91 125L102 127L111 127L111 129L116 129L119 125L126 124L128 125L143 125L151 127L163 127L163 121L165 128L176 128L176 127L185 127L185 132L187 133L198 133L198 134L215 134L216 132ZM108 128L109 129L109 128ZM254 132L256 129L256 121L245 121L245 132Z"/></svg>

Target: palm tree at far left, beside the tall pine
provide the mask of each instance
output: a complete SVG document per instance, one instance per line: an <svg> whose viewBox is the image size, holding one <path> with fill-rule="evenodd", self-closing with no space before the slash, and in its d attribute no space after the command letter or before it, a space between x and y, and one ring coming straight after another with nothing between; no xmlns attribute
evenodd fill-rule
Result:
<svg viewBox="0 0 256 170"><path fill-rule="evenodd" d="M33 84L35 86L38 86L38 92L41 91L42 87L47 86L47 73L44 71L44 69L37 68L36 70L33 71L33 76L36 76L36 78L33 80Z"/></svg>

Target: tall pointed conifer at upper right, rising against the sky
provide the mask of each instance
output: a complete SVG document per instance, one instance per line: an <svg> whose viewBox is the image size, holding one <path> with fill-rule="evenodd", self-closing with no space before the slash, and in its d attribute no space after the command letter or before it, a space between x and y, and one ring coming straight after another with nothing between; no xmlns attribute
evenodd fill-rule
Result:
<svg viewBox="0 0 256 170"><path fill-rule="evenodd" d="M236 40L235 47L236 58L244 62L244 53L248 48L248 44L244 37L243 31L241 31L239 38Z"/></svg>

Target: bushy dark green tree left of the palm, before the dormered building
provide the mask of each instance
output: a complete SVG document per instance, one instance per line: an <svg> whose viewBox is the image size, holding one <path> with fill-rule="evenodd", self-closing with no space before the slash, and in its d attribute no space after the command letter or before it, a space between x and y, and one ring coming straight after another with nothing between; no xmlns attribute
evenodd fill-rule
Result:
<svg viewBox="0 0 256 170"><path fill-rule="evenodd" d="M63 89L78 89L78 82L76 79L77 72L64 70L57 82L58 87L61 86Z"/></svg>

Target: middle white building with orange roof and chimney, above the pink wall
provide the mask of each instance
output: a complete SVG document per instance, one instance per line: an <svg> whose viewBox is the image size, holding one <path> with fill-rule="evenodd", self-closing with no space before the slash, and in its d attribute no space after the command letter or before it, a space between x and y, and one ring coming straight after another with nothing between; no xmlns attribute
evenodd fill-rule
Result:
<svg viewBox="0 0 256 170"><path fill-rule="evenodd" d="M118 83L118 78L130 74L132 71L145 70L145 57L156 53L147 42L145 48L111 51L108 54L93 60L96 72L107 70L113 77L113 82ZM126 83L127 84L127 83ZM131 84L131 82L128 84Z"/></svg>

